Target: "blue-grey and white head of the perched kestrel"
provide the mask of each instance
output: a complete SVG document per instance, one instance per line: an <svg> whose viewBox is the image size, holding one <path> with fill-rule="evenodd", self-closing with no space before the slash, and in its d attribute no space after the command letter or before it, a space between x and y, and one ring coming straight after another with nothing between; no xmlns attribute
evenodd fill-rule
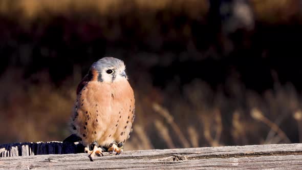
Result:
<svg viewBox="0 0 302 170"><path fill-rule="evenodd" d="M100 82L114 82L127 79L124 62L114 57L104 57L93 63L89 76Z"/></svg>

